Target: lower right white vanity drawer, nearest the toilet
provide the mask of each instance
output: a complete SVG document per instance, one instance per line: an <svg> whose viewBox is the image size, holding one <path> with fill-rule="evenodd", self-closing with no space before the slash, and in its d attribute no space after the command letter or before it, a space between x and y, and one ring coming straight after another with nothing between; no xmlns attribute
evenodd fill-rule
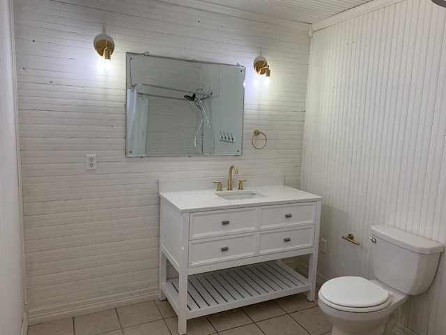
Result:
<svg viewBox="0 0 446 335"><path fill-rule="evenodd" d="M314 225L260 232L259 255L313 246Z"/></svg>

